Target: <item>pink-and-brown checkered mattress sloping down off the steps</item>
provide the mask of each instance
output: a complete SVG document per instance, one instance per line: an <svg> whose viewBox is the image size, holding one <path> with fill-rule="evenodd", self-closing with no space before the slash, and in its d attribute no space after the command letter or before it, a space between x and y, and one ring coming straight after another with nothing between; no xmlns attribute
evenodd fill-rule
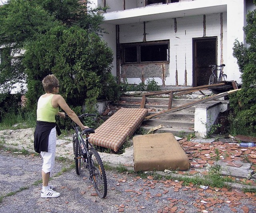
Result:
<svg viewBox="0 0 256 213"><path fill-rule="evenodd" d="M140 126L147 113L148 110L142 108L119 109L90 135L90 142L117 152L126 138L132 136Z"/></svg>

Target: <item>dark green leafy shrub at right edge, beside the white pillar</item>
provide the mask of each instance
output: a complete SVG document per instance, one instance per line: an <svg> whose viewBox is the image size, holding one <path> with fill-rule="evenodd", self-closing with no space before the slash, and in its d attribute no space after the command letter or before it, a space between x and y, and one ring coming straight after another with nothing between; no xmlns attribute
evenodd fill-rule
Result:
<svg viewBox="0 0 256 213"><path fill-rule="evenodd" d="M256 0L254 0L256 4ZM230 98L234 109L234 125L237 134L256 135L256 10L248 13L245 47L243 43L234 43L234 57L242 73L242 89Z"/></svg>

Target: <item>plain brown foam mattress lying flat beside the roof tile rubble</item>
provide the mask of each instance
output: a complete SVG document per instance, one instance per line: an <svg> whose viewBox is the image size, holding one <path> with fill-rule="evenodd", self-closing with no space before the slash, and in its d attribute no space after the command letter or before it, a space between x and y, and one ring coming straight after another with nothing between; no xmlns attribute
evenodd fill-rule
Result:
<svg viewBox="0 0 256 213"><path fill-rule="evenodd" d="M134 170L188 170L190 162L172 133L134 136Z"/></svg>

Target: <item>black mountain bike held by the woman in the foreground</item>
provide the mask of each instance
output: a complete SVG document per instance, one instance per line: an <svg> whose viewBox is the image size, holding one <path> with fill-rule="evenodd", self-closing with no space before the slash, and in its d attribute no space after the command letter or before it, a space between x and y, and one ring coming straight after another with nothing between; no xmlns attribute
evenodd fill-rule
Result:
<svg viewBox="0 0 256 213"><path fill-rule="evenodd" d="M96 116L96 114L82 114L78 118L83 118L87 116ZM81 174L81 162L83 167L88 170L90 174L90 181L98 194L99 197L104 198L107 195L107 177L106 172L98 152L94 149L92 144L89 142L89 135L94 133L93 128L88 128L80 132L78 125L72 121L72 128L74 128L75 133L73 134L73 152L74 160L76 164L76 174ZM82 137L86 136L85 141Z"/></svg>

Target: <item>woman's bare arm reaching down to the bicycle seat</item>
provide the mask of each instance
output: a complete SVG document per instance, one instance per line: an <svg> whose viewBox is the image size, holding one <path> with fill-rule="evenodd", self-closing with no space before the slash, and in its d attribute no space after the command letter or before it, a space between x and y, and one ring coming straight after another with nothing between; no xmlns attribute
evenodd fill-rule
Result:
<svg viewBox="0 0 256 213"><path fill-rule="evenodd" d="M80 126L82 129L85 128L89 128L88 126L84 126L84 124L82 124L82 122L79 120L78 116L76 115L76 113L70 108L68 107L66 101L64 100L64 98L61 95L54 95L53 99L52 99L52 106L60 106L60 108L62 108L67 114L68 116L76 123L78 124L78 126ZM55 107L54 106L54 107ZM58 114L60 116L62 116L64 112L58 112Z"/></svg>

